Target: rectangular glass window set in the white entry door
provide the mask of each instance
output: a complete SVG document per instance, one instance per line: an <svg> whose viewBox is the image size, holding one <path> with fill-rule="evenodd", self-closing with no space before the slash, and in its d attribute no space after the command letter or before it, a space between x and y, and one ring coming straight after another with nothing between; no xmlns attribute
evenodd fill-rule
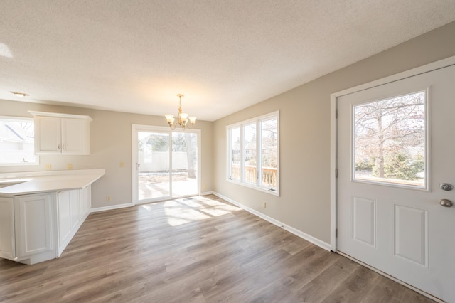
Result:
<svg viewBox="0 0 455 303"><path fill-rule="evenodd" d="M353 107L355 181L426 188L425 91Z"/></svg>

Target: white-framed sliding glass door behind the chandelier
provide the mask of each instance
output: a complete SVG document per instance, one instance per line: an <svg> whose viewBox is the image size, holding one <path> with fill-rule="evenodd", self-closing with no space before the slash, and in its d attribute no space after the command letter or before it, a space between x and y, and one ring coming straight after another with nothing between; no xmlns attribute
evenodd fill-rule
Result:
<svg viewBox="0 0 455 303"><path fill-rule="evenodd" d="M133 201L197 195L198 134L133 125Z"/></svg>

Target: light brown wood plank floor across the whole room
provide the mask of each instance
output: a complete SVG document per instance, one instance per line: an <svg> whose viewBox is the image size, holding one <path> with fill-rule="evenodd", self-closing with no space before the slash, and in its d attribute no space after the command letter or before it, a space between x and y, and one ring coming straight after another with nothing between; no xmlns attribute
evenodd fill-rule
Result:
<svg viewBox="0 0 455 303"><path fill-rule="evenodd" d="M63 255L0 260L0 302L432 302L216 196L92 213Z"/></svg>

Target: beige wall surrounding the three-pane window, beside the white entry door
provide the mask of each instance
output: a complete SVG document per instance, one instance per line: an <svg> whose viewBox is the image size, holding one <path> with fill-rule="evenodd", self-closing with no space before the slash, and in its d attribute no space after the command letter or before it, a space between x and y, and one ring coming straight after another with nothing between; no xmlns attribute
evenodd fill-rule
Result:
<svg viewBox="0 0 455 303"><path fill-rule="evenodd" d="M214 191L329 243L331 93L453 56L454 37L452 22L219 119L213 125ZM226 181L226 125L274 110L280 112L279 197Z"/></svg>

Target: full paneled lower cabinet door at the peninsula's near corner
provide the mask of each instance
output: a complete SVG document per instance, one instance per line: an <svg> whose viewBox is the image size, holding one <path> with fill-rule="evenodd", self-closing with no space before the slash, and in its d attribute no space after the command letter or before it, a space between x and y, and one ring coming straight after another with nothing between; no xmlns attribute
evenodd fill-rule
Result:
<svg viewBox="0 0 455 303"><path fill-rule="evenodd" d="M53 250L52 201L50 193L16 197L19 258Z"/></svg>

